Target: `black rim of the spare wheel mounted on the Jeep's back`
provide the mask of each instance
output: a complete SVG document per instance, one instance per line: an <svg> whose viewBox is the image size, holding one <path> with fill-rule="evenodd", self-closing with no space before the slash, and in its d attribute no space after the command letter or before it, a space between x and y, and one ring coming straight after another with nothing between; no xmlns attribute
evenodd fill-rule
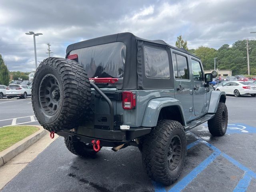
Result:
<svg viewBox="0 0 256 192"><path fill-rule="evenodd" d="M42 78L39 87L39 102L47 115L54 115L60 107L60 86L57 78L47 74Z"/></svg>

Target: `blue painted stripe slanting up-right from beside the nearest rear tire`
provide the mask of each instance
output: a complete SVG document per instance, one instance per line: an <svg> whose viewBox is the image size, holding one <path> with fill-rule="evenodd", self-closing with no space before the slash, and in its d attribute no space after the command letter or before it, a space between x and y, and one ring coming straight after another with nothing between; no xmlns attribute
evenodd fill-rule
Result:
<svg viewBox="0 0 256 192"><path fill-rule="evenodd" d="M183 190L200 172L202 172L211 162L218 156L219 152L213 152L208 158L194 168L188 175L186 175L180 182L174 185L168 192L177 192Z"/></svg>

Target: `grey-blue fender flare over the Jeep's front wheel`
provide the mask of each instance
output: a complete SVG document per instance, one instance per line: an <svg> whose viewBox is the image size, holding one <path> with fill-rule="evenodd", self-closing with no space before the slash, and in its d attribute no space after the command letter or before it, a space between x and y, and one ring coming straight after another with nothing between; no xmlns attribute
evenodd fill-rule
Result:
<svg viewBox="0 0 256 192"><path fill-rule="evenodd" d="M223 91L211 91L208 113L216 113L220 101L226 102L226 93Z"/></svg>

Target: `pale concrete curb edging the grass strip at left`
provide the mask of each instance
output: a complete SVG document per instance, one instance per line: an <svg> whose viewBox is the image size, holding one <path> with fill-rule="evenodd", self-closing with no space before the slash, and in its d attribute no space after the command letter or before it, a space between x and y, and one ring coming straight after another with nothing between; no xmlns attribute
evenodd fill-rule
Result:
<svg viewBox="0 0 256 192"><path fill-rule="evenodd" d="M0 152L0 167L6 164L12 158L14 158L16 155L24 151L26 148L34 144L36 141L38 141L48 132L42 126L38 126L38 125L31 125L31 126L37 127L39 128L39 130L33 133L32 135L17 142L16 144L10 146L9 148L3 150L2 152Z"/></svg>

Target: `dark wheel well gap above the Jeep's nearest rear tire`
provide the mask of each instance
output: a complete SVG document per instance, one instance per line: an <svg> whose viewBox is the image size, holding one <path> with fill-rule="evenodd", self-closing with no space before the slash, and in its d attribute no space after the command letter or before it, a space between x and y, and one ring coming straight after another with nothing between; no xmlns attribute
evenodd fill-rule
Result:
<svg viewBox="0 0 256 192"><path fill-rule="evenodd" d="M168 106L161 109L158 120L169 119L176 120L184 125L182 120L182 113L180 112L180 108L178 106Z"/></svg>

